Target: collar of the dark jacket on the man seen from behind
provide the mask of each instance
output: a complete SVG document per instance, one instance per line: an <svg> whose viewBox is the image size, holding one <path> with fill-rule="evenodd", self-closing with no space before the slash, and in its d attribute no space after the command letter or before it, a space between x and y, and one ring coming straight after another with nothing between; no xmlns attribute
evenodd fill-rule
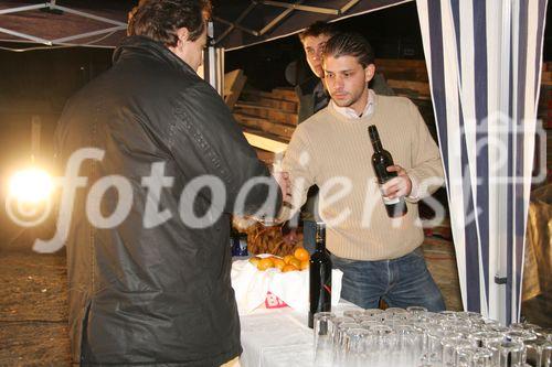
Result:
<svg viewBox="0 0 552 367"><path fill-rule="evenodd" d="M166 45L141 35L125 37L113 54L113 63L116 64L120 60L138 54L153 56L177 69L195 74L190 65L174 55Z"/></svg>

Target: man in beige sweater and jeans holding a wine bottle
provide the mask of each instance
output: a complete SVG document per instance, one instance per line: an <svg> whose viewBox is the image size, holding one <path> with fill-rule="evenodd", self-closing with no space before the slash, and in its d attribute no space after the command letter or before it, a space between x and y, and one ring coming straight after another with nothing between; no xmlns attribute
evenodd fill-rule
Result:
<svg viewBox="0 0 552 367"><path fill-rule="evenodd" d="M333 267L343 271L342 298L364 309L380 299L390 306L445 309L420 246L424 234L417 201L443 184L439 151L417 108L403 97L368 88L373 51L359 34L331 37L323 69L331 101L299 125L284 159L293 182L293 211L311 185L320 187L319 214L327 225ZM381 191L371 166L368 127L375 125L394 159L397 177ZM408 212L390 218L382 195L406 197Z"/></svg>

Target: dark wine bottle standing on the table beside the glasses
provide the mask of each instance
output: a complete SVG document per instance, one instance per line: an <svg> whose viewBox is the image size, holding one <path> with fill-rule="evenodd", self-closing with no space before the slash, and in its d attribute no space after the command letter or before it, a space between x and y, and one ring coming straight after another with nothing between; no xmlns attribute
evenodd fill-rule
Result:
<svg viewBox="0 0 552 367"><path fill-rule="evenodd" d="M309 267L309 321L314 327L314 316L317 312L331 311L331 259L326 250L326 225L316 224L316 250L310 257Z"/></svg>

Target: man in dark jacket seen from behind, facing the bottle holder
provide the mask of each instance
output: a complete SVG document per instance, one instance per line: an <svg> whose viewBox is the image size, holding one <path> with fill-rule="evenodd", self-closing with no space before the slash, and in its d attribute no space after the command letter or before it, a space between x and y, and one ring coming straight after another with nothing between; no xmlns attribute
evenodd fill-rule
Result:
<svg viewBox="0 0 552 367"><path fill-rule="evenodd" d="M82 161L68 226L73 363L220 366L242 353L230 214L237 201L274 216L287 188L195 73L206 6L141 1L113 67L60 120L62 162L102 152ZM242 195L252 177L264 183Z"/></svg>

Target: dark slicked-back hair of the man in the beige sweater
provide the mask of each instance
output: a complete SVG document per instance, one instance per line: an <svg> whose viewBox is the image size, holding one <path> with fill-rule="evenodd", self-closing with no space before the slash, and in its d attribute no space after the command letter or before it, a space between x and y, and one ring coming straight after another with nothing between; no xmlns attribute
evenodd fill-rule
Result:
<svg viewBox="0 0 552 367"><path fill-rule="evenodd" d="M343 32L336 34L326 42L323 56L354 56L362 67L374 63L374 51L370 43L357 32Z"/></svg>

